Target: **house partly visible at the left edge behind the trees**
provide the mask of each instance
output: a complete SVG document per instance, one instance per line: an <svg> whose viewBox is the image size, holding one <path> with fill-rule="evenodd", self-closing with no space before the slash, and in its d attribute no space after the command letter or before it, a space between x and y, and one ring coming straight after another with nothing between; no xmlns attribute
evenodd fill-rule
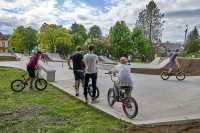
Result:
<svg viewBox="0 0 200 133"><path fill-rule="evenodd" d="M8 52L8 39L0 32L0 53Z"/></svg>

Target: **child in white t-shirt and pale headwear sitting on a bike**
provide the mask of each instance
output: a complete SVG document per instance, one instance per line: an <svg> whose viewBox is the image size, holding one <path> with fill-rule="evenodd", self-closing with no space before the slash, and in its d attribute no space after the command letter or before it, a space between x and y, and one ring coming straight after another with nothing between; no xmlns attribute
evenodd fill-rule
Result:
<svg viewBox="0 0 200 133"><path fill-rule="evenodd" d="M133 79L131 77L131 68L130 65L128 65L128 59L126 57L121 57L120 64L116 65L111 72L114 74L119 73L119 87L126 88L126 94L131 96Z"/></svg>

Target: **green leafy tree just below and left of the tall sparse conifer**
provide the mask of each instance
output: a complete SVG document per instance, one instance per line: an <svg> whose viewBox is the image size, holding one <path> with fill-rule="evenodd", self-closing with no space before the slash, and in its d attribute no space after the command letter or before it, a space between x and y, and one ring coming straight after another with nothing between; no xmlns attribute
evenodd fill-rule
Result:
<svg viewBox="0 0 200 133"><path fill-rule="evenodd" d="M154 48L151 42L145 38L144 33L140 27L135 27L131 33L131 39L134 43L133 52L138 54L140 57L144 55L145 57L151 58L154 55Z"/></svg>

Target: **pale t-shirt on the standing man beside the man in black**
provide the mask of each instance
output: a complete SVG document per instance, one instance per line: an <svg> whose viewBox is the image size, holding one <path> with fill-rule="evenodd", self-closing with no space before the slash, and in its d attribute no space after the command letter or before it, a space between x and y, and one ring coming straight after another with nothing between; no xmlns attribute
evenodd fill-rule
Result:
<svg viewBox="0 0 200 133"><path fill-rule="evenodd" d="M96 54L86 54L83 60L86 66L86 73L97 73L98 56Z"/></svg>

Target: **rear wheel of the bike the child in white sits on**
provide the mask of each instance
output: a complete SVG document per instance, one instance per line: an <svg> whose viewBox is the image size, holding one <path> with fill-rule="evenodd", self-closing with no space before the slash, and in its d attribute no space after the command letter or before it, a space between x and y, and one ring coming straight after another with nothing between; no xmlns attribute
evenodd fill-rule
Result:
<svg viewBox="0 0 200 133"><path fill-rule="evenodd" d="M122 101L122 108L126 116L130 119L135 118L138 114L138 104L133 97L127 97Z"/></svg>

